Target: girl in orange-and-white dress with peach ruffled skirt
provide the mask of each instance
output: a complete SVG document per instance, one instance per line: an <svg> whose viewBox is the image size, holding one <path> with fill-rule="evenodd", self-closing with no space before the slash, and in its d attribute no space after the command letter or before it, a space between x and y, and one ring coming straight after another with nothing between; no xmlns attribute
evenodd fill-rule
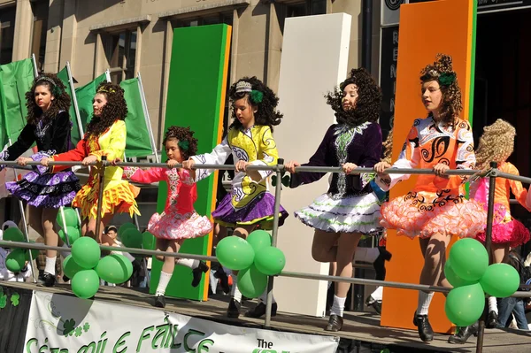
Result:
<svg viewBox="0 0 531 353"><path fill-rule="evenodd" d="M381 206L381 225L396 229L397 234L419 236L425 262L420 283L451 287L443 268L445 252L452 235L474 237L483 230L486 212L481 203L466 200L462 176L444 175L449 169L473 169L473 135L470 124L459 118L461 90L451 58L437 55L420 76L422 102L427 118L416 119L407 136L400 157L393 167L428 168L435 175L419 175L415 188ZM381 173L390 165L374 166ZM410 174L379 174L376 182L389 190ZM433 292L419 292L419 305L413 316L422 341L432 341L434 333L427 318Z"/></svg>

